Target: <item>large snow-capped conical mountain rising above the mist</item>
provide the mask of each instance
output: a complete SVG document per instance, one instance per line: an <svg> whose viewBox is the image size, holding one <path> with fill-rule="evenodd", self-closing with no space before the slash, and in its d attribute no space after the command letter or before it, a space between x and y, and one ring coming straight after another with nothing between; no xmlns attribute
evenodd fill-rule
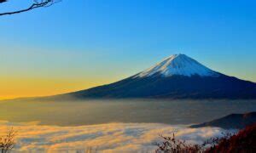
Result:
<svg viewBox="0 0 256 153"><path fill-rule="evenodd" d="M256 83L228 77L185 54L174 54L135 76L55 99L256 99Z"/></svg>

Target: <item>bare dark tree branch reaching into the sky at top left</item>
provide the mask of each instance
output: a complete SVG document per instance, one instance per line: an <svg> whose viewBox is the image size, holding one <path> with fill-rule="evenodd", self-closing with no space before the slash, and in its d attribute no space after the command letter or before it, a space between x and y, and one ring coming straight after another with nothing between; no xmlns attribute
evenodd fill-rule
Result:
<svg viewBox="0 0 256 153"><path fill-rule="evenodd" d="M0 0L0 3L6 3L8 0ZM33 0L33 3L30 7L25 8L25 9L20 9L17 11L11 11L11 12L5 12L5 13L0 13L1 15L8 15L8 14L20 14L22 12L26 12L29 10L32 10L34 8L44 8L44 7L49 7L53 5L54 3L59 3L61 0Z"/></svg>

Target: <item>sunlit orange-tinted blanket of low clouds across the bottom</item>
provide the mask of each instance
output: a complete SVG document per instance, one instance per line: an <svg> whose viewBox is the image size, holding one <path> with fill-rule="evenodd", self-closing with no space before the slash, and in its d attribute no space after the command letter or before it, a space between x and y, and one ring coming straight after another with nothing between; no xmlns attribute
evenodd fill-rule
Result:
<svg viewBox="0 0 256 153"><path fill-rule="evenodd" d="M36 122L0 122L0 134L17 132L14 152L153 152L160 135L202 143L221 136L218 127L189 128L159 123L108 123L77 127L42 126Z"/></svg>

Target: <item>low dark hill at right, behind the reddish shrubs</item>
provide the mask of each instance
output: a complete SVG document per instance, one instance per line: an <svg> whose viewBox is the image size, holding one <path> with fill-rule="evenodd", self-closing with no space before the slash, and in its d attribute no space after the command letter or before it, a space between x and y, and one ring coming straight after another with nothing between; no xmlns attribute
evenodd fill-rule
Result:
<svg viewBox="0 0 256 153"><path fill-rule="evenodd" d="M256 111L245 114L230 114L229 116L224 116L211 122L192 125L191 127L222 127L225 129L241 129L253 123L256 123Z"/></svg>

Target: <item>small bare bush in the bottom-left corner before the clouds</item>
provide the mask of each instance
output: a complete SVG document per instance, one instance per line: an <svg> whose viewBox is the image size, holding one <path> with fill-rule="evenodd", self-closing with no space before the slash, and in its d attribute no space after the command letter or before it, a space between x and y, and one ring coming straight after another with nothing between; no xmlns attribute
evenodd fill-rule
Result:
<svg viewBox="0 0 256 153"><path fill-rule="evenodd" d="M7 153L15 146L15 130L10 128L5 136L0 137L0 151L1 153Z"/></svg>

